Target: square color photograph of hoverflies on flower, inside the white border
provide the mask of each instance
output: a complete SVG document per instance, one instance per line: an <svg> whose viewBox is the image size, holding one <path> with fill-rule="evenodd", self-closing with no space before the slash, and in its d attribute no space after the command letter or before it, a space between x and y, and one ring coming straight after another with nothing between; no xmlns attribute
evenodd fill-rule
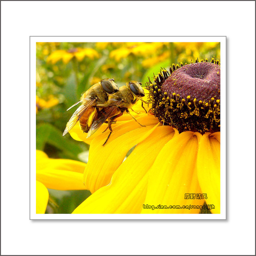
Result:
<svg viewBox="0 0 256 256"><path fill-rule="evenodd" d="M223 39L35 39L36 218L220 218Z"/></svg>

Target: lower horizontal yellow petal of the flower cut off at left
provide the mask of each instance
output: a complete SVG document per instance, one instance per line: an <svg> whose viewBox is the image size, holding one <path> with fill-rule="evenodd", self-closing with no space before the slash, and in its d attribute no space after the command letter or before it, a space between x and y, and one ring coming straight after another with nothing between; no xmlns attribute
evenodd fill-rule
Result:
<svg viewBox="0 0 256 256"><path fill-rule="evenodd" d="M42 182L46 188L59 190L81 190L83 174L65 170L44 169L36 171L36 180Z"/></svg>

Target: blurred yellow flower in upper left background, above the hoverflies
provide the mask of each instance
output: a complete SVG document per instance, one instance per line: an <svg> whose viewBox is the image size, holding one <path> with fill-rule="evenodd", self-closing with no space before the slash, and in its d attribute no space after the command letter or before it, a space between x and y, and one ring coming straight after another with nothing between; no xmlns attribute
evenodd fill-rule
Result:
<svg viewBox="0 0 256 256"><path fill-rule="evenodd" d="M82 61L85 57L93 60L94 58L99 58L100 55L92 48L56 50L48 56L47 62L55 64L57 61L62 60L65 64L67 64L72 58L76 58L78 61Z"/></svg>

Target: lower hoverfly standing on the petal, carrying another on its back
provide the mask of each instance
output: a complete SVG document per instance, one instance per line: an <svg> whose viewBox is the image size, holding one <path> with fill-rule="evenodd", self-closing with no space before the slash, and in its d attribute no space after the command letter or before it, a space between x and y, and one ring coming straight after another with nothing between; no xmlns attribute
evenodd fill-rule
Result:
<svg viewBox="0 0 256 256"><path fill-rule="evenodd" d="M109 99L106 103L97 104L98 109L97 109L97 112L95 113L95 116L93 117L92 125L87 134L87 138L89 138L94 132L96 132L103 123L107 123L108 124L107 129L110 130L110 133L108 135L107 140L102 145L102 146L105 146L112 133L111 124L116 123L115 119L119 116L122 116L125 111L132 116L132 114L129 112L129 108L132 109L132 105L134 105L138 100L141 100L141 106L142 108L144 108L143 102L144 103L146 102L141 99L144 96L145 96L145 93L143 88L141 87L141 83L137 81L130 81L130 82L127 82L126 85L121 86L118 92L109 96ZM144 110L146 111L145 108ZM134 110L132 109L132 111ZM134 116L132 116L132 118L138 124L140 124L135 119ZM106 121L107 119L108 121ZM142 125L142 124L140 125L145 127L145 125Z"/></svg>

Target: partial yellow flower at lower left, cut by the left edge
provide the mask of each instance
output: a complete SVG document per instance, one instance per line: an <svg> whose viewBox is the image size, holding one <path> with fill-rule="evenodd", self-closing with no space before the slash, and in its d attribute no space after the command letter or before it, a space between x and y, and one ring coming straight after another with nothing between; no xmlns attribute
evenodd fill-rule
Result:
<svg viewBox="0 0 256 256"><path fill-rule="evenodd" d="M85 189L82 183L85 164L69 159L52 159L36 150L36 213L44 213L48 203L47 188Z"/></svg>

